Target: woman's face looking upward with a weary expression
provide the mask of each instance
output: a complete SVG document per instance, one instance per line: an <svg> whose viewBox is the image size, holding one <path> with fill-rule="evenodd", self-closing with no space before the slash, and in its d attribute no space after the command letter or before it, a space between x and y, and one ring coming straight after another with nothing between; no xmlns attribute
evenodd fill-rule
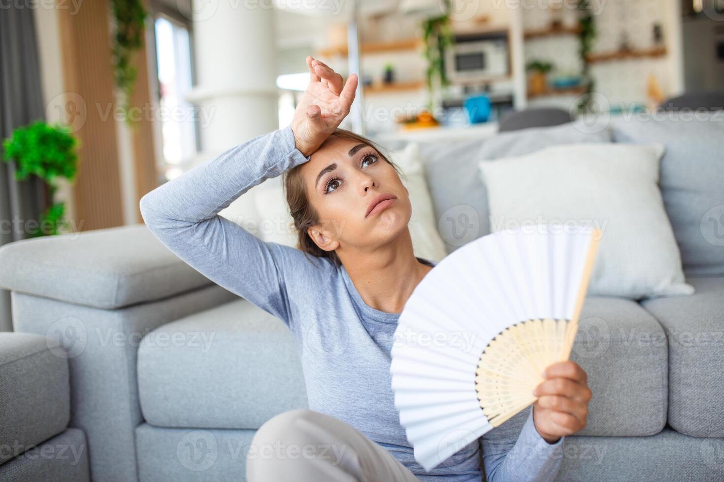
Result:
<svg viewBox="0 0 724 482"><path fill-rule="evenodd" d="M373 147L330 136L301 169L308 202L319 215L319 225L308 233L321 249L372 251L407 227L408 190ZM369 212L380 194L394 199Z"/></svg>

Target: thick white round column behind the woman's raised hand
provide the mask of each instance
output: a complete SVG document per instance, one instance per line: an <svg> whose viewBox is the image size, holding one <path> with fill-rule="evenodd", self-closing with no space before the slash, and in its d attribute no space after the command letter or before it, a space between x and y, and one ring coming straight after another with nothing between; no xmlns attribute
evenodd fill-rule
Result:
<svg viewBox="0 0 724 482"><path fill-rule="evenodd" d="M279 127L270 1L193 0L199 161Z"/></svg>

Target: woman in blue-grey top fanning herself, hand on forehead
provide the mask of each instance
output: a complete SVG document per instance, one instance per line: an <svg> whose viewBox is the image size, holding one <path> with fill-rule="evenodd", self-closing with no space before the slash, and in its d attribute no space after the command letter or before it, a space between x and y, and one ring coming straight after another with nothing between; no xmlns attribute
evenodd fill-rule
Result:
<svg viewBox="0 0 724 482"><path fill-rule="evenodd" d="M169 249L279 317L298 343L311 410L261 426L248 478L480 481L478 442L430 473L413 458L390 388L390 350L405 301L435 263L413 254L410 199L395 166L368 140L337 129L357 76L345 85L311 56L307 65L310 82L291 126L233 147L140 201L148 228ZM217 215L282 173L299 249L261 241ZM545 377L532 410L483 436L489 481L552 479L563 437L585 426L585 372L564 362Z"/></svg>

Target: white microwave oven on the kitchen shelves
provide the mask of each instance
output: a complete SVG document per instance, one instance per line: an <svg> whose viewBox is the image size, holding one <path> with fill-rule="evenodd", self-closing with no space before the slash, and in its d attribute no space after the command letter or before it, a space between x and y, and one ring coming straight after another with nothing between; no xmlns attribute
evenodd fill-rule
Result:
<svg viewBox="0 0 724 482"><path fill-rule="evenodd" d="M445 73L452 82L507 76L508 35L456 37L445 52Z"/></svg>

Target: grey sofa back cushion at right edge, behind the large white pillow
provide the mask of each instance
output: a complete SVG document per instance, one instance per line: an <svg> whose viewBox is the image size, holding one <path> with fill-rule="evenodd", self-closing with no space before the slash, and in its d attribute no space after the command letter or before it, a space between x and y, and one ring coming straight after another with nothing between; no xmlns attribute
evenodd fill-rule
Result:
<svg viewBox="0 0 724 482"><path fill-rule="evenodd" d="M611 119L614 142L662 143L660 187L686 275L724 275L724 111Z"/></svg>

